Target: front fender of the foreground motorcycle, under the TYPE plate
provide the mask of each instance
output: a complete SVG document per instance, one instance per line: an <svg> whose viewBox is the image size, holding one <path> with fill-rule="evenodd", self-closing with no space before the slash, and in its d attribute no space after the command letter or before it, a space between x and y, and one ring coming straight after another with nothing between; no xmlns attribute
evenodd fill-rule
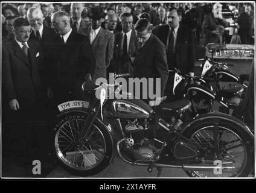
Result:
<svg viewBox="0 0 256 193"><path fill-rule="evenodd" d="M72 108L72 109L68 109L68 110L63 110L62 112L60 112L58 115L56 115L57 119L62 119L62 117L66 116L66 115L72 115L74 113L84 113L86 116L88 115L88 109L85 109L85 108ZM114 159L114 150L115 150L115 146L114 146L114 137L115 137L115 134L116 131L112 128L112 125L110 125L108 122L106 121L101 121L101 119L99 118L96 118L96 121L98 121L98 123L100 125L102 125L106 130L107 130L107 133L109 134L110 136L110 139L111 139L111 145L112 145L112 157L110 159L110 164L112 164L112 161ZM59 124L57 124L55 127L54 127L54 130L56 130L57 126Z"/></svg>

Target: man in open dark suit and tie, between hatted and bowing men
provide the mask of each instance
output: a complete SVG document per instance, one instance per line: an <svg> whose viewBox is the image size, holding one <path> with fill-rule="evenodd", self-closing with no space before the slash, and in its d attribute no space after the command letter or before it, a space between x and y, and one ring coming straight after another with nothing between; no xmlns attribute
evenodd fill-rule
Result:
<svg viewBox="0 0 256 193"><path fill-rule="evenodd" d="M120 21L123 31L115 34L114 55L109 71L118 74L130 73L133 77L132 60L136 56L138 43L135 31L132 30L132 14L122 13Z"/></svg>

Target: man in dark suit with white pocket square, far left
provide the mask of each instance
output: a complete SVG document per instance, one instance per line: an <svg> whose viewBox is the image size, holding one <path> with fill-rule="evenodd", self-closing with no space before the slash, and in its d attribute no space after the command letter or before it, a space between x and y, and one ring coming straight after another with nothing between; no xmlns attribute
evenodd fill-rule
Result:
<svg viewBox="0 0 256 193"><path fill-rule="evenodd" d="M29 153L36 139L40 124L31 127L34 121L43 120L45 115L42 84L42 52L36 42L28 41L31 26L22 17L14 19L14 39L2 48L2 98L5 120L18 123L11 127L15 149ZM32 121L32 122L31 122ZM16 126L16 127L15 127ZM40 139L39 139L40 140ZM24 156L24 155L23 155ZM29 158L25 155L23 158ZM29 160L32 164L33 160Z"/></svg>

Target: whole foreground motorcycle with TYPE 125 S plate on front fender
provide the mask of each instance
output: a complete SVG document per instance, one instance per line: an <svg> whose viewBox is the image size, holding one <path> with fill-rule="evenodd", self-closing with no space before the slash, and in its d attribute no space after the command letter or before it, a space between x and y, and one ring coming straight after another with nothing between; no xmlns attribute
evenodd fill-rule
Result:
<svg viewBox="0 0 256 193"><path fill-rule="evenodd" d="M147 166L149 172L158 169L156 177L162 168L181 168L190 177L248 176L254 164L254 135L242 121L211 112L185 124L189 100L149 106L126 92L121 95L127 98L110 99L119 86L118 81L85 82L85 101L58 106L54 150L66 171L97 174L112 164L117 150L126 163ZM99 90L100 99L95 95Z"/></svg>

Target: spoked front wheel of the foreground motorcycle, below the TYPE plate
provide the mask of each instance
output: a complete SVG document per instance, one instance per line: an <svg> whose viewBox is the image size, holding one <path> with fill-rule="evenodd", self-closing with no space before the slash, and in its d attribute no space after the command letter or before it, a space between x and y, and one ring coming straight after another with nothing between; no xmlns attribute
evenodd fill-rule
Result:
<svg viewBox="0 0 256 193"><path fill-rule="evenodd" d="M97 174L109 165L112 156L111 139L106 129L95 121L83 138L85 122L86 116L82 113L65 116L57 127L54 140L60 164L77 176Z"/></svg>

